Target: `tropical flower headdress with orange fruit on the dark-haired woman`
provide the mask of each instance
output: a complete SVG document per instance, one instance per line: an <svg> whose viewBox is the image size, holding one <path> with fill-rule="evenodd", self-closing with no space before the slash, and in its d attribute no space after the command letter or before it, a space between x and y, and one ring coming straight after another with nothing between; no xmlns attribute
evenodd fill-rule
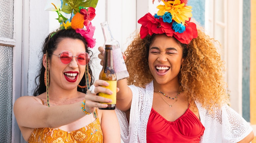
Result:
<svg viewBox="0 0 256 143"><path fill-rule="evenodd" d="M48 0L45 10L58 13L56 18L60 23L58 29L75 29L75 32L86 40L87 46L93 48L96 39L93 38L95 26L91 21L96 15L97 2L98 0ZM54 34L53 32L51 37Z"/></svg>

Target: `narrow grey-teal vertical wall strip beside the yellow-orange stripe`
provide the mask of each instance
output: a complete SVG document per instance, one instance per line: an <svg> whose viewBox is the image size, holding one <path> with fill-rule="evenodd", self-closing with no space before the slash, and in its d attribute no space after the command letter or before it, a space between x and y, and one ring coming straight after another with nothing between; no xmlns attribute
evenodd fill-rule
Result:
<svg viewBox="0 0 256 143"><path fill-rule="evenodd" d="M243 118L250 121L250 39L251 0L243 0Z"/></svg>

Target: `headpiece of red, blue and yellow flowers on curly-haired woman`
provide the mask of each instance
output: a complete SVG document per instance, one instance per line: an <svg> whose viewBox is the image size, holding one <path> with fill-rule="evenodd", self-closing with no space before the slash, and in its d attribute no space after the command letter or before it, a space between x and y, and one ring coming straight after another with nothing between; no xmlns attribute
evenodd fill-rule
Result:
<svg viewBox="0 0 256 143"><path fill-rule="evenodd" d="M187 0L161 0L164 5L159 5L159 11L152 16L145 14L138 20L141 24L140 38L145 38L148 34L165 33L167 36L174 36L181 43L188 44L197 38L196 24L190 22L192 17L191 6L186 6ZM160 0L159 0L160 2ZM154 0L153 0L154 3Z"/></svg>

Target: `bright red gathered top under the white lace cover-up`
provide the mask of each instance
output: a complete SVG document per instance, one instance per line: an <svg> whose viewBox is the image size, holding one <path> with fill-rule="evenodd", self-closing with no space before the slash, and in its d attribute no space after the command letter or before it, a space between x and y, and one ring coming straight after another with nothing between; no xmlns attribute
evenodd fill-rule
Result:
<svg viewBox="0 0 256 143"><path fill-rule="evenodd" d="M152 108L147 124L147 143L199 143L203 132L203 124L189 108L173 122L167 121Z"/></svg>

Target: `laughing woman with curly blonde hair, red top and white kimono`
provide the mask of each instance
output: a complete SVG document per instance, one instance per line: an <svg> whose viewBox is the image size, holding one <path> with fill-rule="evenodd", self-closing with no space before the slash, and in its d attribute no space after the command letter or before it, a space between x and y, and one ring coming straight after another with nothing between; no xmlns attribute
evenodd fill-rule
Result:
<svg viewBox="0 0 256 143"><path fill-rule="evenodd" d="M123 141L250 142L252 128L228 106L215 41L190 22L186 1L163 2L139 19L125 52L130 77L117 82L116 104Z"/></svg>

